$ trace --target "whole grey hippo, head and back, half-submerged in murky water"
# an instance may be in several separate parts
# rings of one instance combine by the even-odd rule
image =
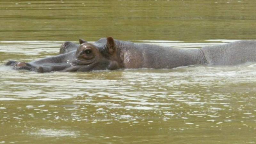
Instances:
[[[101,38],[94,43],[65,42],[60,54],[32,62],[9,61],[7,66],[36,72],[175,68],[188,65],[235,65],[256,61],[256,41],[237,41],[201,49],[176,49]]]

